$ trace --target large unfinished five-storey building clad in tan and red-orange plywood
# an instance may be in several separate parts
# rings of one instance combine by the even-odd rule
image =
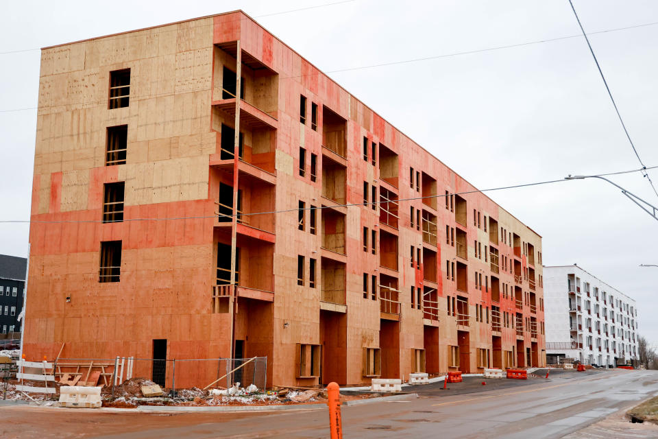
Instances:
[[[38,108],[28,357],[544,364],[541,237],[243,12],[43,49]]]

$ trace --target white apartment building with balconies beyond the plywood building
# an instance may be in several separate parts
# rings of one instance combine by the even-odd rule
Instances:
[[[547,363],[609,366],[637,359],[635,300],[578,265],[544,267]]]

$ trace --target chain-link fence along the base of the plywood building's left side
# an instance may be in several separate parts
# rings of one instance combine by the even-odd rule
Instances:
[[[134,357],[60,358],[53,364],[56,380],[69,385],[116,388],[131,379],[147,379],[165,393],[192,388],[267,388],[267,357],[153,359]],[[238,384],[239,383],[239,384]]]

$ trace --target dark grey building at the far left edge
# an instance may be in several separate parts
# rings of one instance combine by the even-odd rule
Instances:
[[[0,333],[19,338],[27,259],[0,254]]]

